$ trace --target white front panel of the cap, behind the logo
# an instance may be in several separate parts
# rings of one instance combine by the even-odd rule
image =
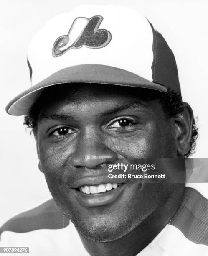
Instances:
[[[79,36],[93,17],[101,16],[94,34],[109,31],[112,38],[100,48],[80,45]],[[91,35],[94,37],[94,34]],[[71,47],[53,56],[53,45],[64,36]],[[78,36],[78,37],[77,37]],[[32,85],[57,70],[80,64],[101,64],[127,70],[152,81],[153,35],[145,17],[121,6],[81,6],[70,13],[53,18],[33,38],[28,51],[32,67]]]

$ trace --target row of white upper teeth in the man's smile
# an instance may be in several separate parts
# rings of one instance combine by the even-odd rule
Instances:
[[[83,192],[84,194],[104,193],[106,191],[112,190],[113,188],[116,189],[119,185],[117,183],[100,184],[98,186],[86,186],[85,185],[85,186],[79,187],[79,191]]]

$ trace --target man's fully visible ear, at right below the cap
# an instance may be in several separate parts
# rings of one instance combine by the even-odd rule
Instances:
[[[183,112],[175,117],[177,155],[180,157],[184,157],[190,149],[193,124],[193,111],[190,105],[183,102],[183,109]]]

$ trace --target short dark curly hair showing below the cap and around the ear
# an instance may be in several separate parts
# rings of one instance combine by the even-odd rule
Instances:
[[[47,89],[45,89],[47,90]],[[145,90],[145,89],[142,89]],[[152,92],[153,90],[151,90]],[[155,91],[155,90],[154,90]],[[167,116],[167,118],[171,118],[175,115],[179,115],[183,112],[183,101],[181,94],[179,92],[175,92],[174,90],[167,90],[167,92],[154,92],[157,100],[159,100],[162,105],[162,109]],[[24,125],[27,125],[28,128],[31,128],[31,132],[36,133],[37,123],[38,123],[38,115],[39,115],[39,104],[38,100],[33,104],[30,108],[30,111],[24,117]],[[190,148],[189,151],[185,154],[185,157],[191,156],[195,152],[196,140],[198,138],[198,128],[196,125],[196,120],[193,118],[192,124],[192,136],[190,140]]]

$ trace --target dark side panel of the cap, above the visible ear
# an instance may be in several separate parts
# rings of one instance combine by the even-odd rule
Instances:
[[[153,33],[152,51],[154,59],[152,62],[152,80],[162,84],[166,88],[180,92],[178,70],[175,57],[163,36],[154,29],[150,23]]]

